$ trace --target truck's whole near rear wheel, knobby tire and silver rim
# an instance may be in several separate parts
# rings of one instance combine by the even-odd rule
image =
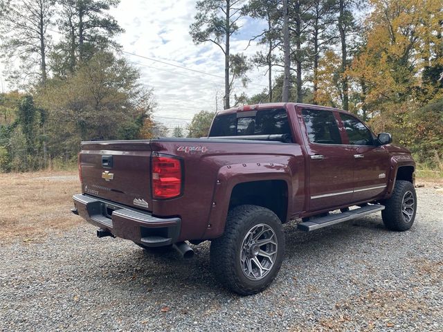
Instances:
[[[223,236],[210,245],[215,277],[240,295],[260,293],[280,270],[284,233],[278,216],[256,205],[239,205],[228,213]]]

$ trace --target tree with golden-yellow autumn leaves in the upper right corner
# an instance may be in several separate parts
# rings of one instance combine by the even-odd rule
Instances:
[[[402,102],[423,106],[438,97],[440,82],[422,80],[428,66],[443,64],[439,54],[443,12],[438,0],[372,0],[372,29],[347,75],[360,86],[367,109],[389,111]],[[426,46],[426,47],[425,47]],[[425,84],[429,84],[426,86]]]

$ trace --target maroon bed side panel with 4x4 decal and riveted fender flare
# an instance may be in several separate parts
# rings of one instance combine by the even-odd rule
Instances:
[[[202,139],[152,140],[151,143],[153,152],[184,160],[183,195],[172,200],[152,201],[154,215],[181,217],[180,240],[219,237],[224,230],[230,193],[238,183],[286,181],[288,216],[294,210],[302,210],[305,173],[298,144]]]

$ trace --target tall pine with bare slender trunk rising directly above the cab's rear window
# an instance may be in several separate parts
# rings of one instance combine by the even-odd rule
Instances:
[[[242,17],[243,0],[197,1],[195,22],[190,25],[190,35],[195,44],[211,42],[224,54],[224,108],[230,108],[230,37],[239,30],[237,21]]]

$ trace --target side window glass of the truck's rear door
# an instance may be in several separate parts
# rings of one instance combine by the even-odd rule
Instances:
[[[318,144],[341,144],[340,131],[332,111],[303,109],[309,142]]]

